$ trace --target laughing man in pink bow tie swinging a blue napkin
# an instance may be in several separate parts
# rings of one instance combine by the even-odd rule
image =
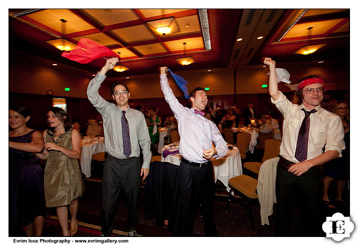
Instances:
[[[217,230],[213,219],[214,182],[210,160],[223,157],[228,148],[216,125],[203,117],[207,104],[204,89],[195,88],[190,95],[191,108],[183,107],[169,87],[166,72],[166,67],[160,68],[161,90],[178,122],[179,154],[182,155],[178,171],[180,231],[184,236],[192,234],[201,204],[204,233],[213,236]]]

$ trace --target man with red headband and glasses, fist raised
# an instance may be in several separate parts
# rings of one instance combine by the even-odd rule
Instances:
[[[322,78],[301,80],[297,95],[302,103],[297,105],[278,91],[275,61],[265,58],[264,64],[269,67],[271,102],[284,116],[276,172],[276,234],[290,235],[291,207],[297,196],[300,235],[318,236],[324,222],[318,220],[321,165],[341,156],[345,148],[341,121],[320,107],[325,91]]]

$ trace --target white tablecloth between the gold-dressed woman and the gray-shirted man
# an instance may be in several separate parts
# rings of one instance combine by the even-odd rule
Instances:
[[[81,155],[79,158],[79,162],[81,171],[84,173],[86,178],[91,176],[92,155],[99,152],[104,152],[103,139],[90,144],[83,143],[83,141],[81,142]]]

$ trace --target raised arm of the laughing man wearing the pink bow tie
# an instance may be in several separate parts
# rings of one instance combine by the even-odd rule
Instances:
[[[178,120],[184,112],[184,107],[178,102],[177,98],[173,94],[172,89],[169,87],[166,72],[167,67],[161,67],[159,69],[161,90],[163,92],[164,99],[166,100],[174,114],[174,117]]]

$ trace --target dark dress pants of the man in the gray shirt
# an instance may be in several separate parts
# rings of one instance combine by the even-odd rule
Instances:
[[[121,189],[124,192],[128,209],[126,230],[131,231],[137,225],[138,195],[141,181],[141,163],[139,158],[117,159],[108,155],[103,168],[101,231],[109,236],[113,229],[116,200]]]

